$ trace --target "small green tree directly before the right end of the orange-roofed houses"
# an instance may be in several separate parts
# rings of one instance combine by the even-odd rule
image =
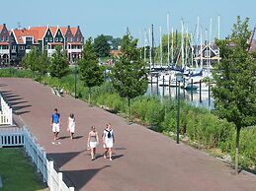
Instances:
[[[61,46],[57,46],[52,54],[49,72],[51,77],[55,77],[58,80],[69,73],[69,63],[65,52],[61,50]]]

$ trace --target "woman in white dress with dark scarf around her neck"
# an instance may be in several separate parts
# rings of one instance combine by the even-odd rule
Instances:
[[[103,138],[103,147],[105,148],[104,159],[107,159],[107,155],[109,153],[110,160],[112,160],[112,148],[115,143],[114,131],[111,128],[111,124],[108,123],[106,129],[102,135]]]

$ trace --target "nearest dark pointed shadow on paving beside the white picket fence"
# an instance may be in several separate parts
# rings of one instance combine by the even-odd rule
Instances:
[[[105,165],[100,168],[81,169],[81,170],[64,170],[63,180],[68,186],[74,186],[75,190],[83,188],[99,171],[111,167],[111,165]],[[72,177],[72,178],[69,178]]]

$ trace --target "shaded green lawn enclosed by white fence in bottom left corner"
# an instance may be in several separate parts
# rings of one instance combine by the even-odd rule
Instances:
[[[23,149],[0,149],[1,191],[46,191],[36,168]]]

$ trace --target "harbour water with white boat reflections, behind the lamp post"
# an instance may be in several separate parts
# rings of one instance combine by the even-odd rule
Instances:
[[[146,92],[148,96],[158,96],[160,99],[165,98],[177,98],[178,88],[176,87],[160,87],[156,84],[148,84]],[[185,91],[180,90],[180,96],[187,100],[189,103],[195,106],[204,107],[207,109],[213,109],[213,97],[209,91]]]

